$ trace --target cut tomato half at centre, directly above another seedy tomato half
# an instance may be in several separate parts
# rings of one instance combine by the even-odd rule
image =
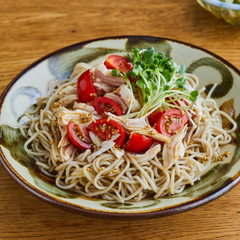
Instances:
[[[123,115],[120,106],[110,98],[98,97],[92,101],[92,106],[95,108],[98,114],[103,117],[108,117],[105,112],[110,112],[117,116]]]

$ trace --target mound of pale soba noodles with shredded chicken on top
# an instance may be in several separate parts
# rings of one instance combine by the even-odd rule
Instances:
[[[128,112],[123,116],[109,112],[107,118],[120,124],[126,135],[138,133],[152,138],[152,143],[147,150],[136,153],[125,149],[127,140],[120,147],[115,145],[119,134],[102,139],[89,131],[94,147],[77,147],[68,135],[69,122],[87,128],[103,118],[91,102],[79,102],[77,82],[89,68],[77,64],[69,79],[60,81],[46,96],[38,98],[34,111],[25,112],[28,121],[20,128],[27,139],[27,154],[44,174],[56,179],[59,188],[119,202],[140,201],[147,196],[159,198],[182,192],[186,185],[199,180],[211,163],[229,156],[229,152],[221,153],[221,146],[231,141],[230,133],[236,129],[236,123],[210,98],[214,89],[206,98],[199,95],[192,108],[181,103],[183,109],[188,109],[188,123],[176,134],[164,136],[155,126],[149,126],[148,115],[140,112],[143,107],[139,96],[131,92],[124,79],[118,77],[116,84],[109,84],[114,77],[106,75],[106,69],[101,71],[103,64],[95,67],[99,93],[117,99],[120,106],[124,105],[124,113]],[[179,74],[174,76],[176,79]],[[196,76],[185,74],[184,78],[189,91],[197,89]],[[179,107],[176,103],[175,106]],[[167,103],[165,107],[171,108]],[[231,122],[231,129],[223,129],[222,117]]]

